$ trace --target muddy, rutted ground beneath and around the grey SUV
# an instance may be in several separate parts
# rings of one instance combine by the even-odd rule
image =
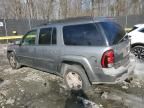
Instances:
[[[130,83],[68,91],[55,75],[29,67],[12,70],[1,47],[0,108],[144,108],[144,64],[135,63]]]

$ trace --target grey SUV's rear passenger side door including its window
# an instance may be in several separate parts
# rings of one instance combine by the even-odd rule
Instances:
[[[35,67],[49,72],[56,71],[58,55],[57,29],[55,27],[41,28],[35,53]]]

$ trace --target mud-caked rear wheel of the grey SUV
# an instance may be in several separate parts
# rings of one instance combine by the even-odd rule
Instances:
[[[91,86],[84,69],[79,65],[66,66],[64,81],[70,90],[87,90]]]

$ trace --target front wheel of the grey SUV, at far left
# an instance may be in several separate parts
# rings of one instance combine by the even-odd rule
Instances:
[[[12,69],[19,69],[21,67],[20,63],[16,59],[14,52],[11,52],[8,55],[8,60],[9,60],[9,64],[12,67]]]

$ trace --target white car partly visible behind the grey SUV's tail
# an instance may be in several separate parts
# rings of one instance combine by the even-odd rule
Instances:
[[[131,52],[140,60],[144,60],[144,24],[137,24],[128,33],[131,39]]]

